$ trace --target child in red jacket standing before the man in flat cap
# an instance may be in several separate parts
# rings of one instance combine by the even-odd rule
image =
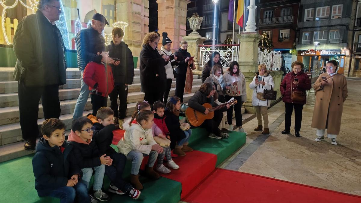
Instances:
[[[105,51],[104,44],[95,47],[96,54],[109,57],[109,51]],[[100,107],[106,107],[108,95],[114,88],[112,68],[103,62],[89,62],[84,69],[83,81],[89,86],[93,115]]]

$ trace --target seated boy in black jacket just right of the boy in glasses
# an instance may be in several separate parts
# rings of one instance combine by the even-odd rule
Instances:
[[[97,113],[96,118],[98,122],[94,123],[94,135],[95,143],[99,149],[99,154],[110,156],[113,160],[112,164],[105,166],[105,174],[110,179],[109,192],[119,195],[128,194],[133,199],[138,199],[140,191],[134,189],[130,183],[122,179],[126,156],[116,152],[113,147],[110,146],[113,142],[113,130],[115,126],[113,124],[114,112],[108,107],[101,107]]]

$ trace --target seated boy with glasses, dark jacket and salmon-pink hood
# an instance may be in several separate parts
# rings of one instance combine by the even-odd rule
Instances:
[[[71,133],[68,142],[73,146],[73,154],[79,168],[83,172],[81,182],[89,189],[89,182],[94,175],[92,198],[102,202],[109,200],[109,195],[101,190],[105,173],[105,165],[112,165],[112,159],[106,154],[99,157],[99,150],[93,138],[93,123],[89,118],[79,117],[71,123]]]

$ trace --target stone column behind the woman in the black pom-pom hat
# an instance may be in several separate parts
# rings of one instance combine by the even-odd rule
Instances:
[[[158,47],[162,46],[162,32],[166,32],[172,40],[171,51],[178,50],[182,37],[186,36],[187,4],[190,2],[190,0],[157,0],[158,33],[161,35]]]

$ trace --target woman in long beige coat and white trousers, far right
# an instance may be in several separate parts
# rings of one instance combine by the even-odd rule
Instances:
[[[327,128],[327,137],[336,145],[336,137],[340,133],[343,103],[347,98],[347,81],[344,75],[336,72],[338,65],[335,60],[327,62],[326,68],[327,73],[319,75],[313,85],[316,102],[311,127],[317,128],[315,141],[325,139]],[[326,80],[322,79],[325,77]]]

